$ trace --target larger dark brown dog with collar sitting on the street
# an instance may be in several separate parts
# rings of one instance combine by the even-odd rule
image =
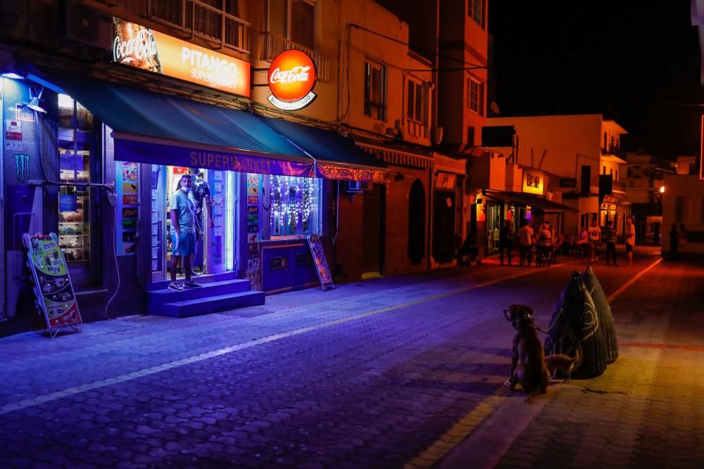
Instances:
[[[513,323],[511,374],[503,385],[513,391],[520,384],[531,402],[537,394],[545,394],[550,374],[545,366],[545,352],[533,322],[533,310],[524,304],[512,304],[504,309],[503,316]]]

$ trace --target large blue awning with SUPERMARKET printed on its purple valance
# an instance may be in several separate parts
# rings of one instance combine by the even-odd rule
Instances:
[[[113,129],[115,160],[313,177],[313,160],[246,111],[44,74]]]

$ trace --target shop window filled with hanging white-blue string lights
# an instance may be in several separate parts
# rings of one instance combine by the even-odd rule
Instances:
[[[318,233],[320,179],[268,176],[270,237]]]

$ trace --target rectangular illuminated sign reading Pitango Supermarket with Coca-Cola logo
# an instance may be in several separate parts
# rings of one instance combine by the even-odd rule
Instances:
[[[113,18],[113,61],[249,97],[249,62]]]

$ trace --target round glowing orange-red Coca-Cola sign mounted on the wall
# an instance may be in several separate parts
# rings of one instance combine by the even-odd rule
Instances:
[[[303,109],[317,96],[315,63],[308,54],[291,49],[279,53],[269,68],[269,102],[279,109]]]

